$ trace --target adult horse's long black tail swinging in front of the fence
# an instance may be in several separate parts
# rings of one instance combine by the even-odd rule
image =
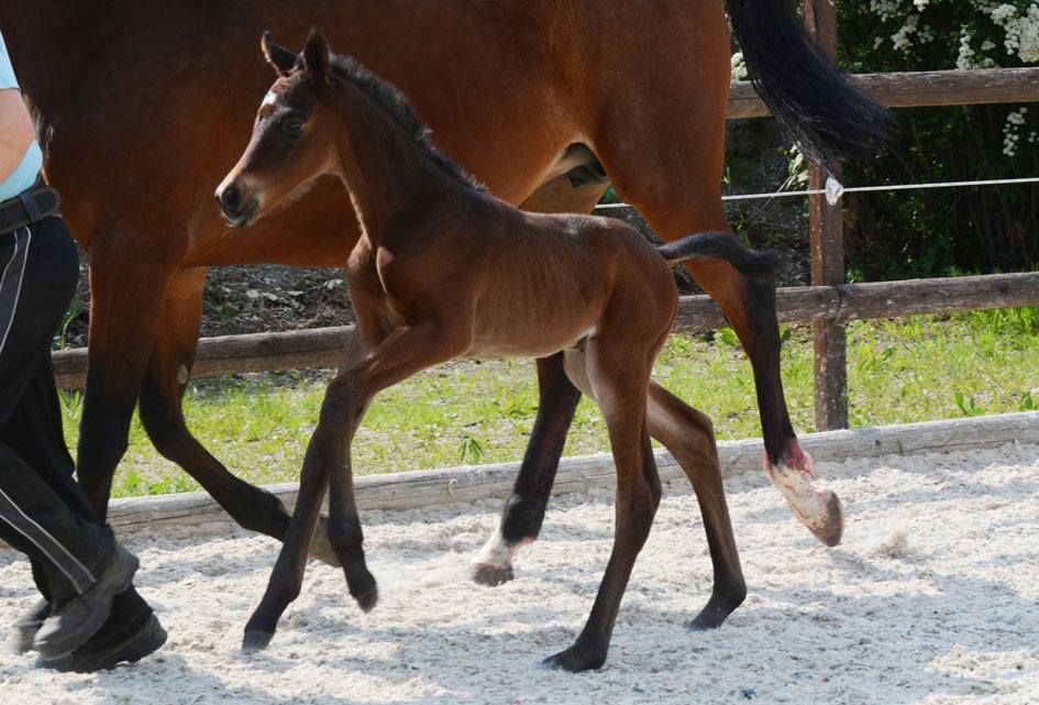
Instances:
[[[754,88],[816,162],[870,155],[891,113],[848,82],[809,37],[792,0],[728,0]]]

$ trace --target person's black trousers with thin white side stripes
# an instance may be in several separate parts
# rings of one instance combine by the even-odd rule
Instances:
[[[51,341],[78,276],[63,220],[0,235],[0,539],[29,555],[48,601],[82,594],[115,544],[73,478],[51,368]],[[130,588],[99,634],[124,631],[150,614]]]

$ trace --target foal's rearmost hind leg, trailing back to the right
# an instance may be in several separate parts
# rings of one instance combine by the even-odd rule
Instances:
[[[704,517],[707,547],[715,569],[715,585],[707,606],[689,625],[694,629],[720,627],[747,596],[740,557],[729,520],[721,466],[710,419],[655,382],[650,382],[650,436],[671,451],[696,492]]]

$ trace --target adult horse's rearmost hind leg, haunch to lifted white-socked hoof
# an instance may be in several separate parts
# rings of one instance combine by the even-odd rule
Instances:
[[[697,43],[661,41],[665,53],[640,47],[631,56],[614,57],[630,59],[623,82],[603,86],[596,119],[586,128],[617,192],[664,240],[729,229],[720,192],[729,33],[720,4],[700,3],[693,11],[698,13]],[[675,46],[681,47],[677,53]],[[690,71],[689,66],[697,69]],[[642,88],[659,85],[668,87],[668,99],[648,100]],[[816,538],[834,546],[843,531],[843,514],[832,492],[813,486],[811,459],[791,423],[780,374],[773,287],[751,282],[716,260],[686,266],[725,312],[750,357],[769,476]]]

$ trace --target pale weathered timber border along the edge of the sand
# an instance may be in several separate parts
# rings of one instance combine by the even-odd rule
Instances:
[[[1039,443],[1039,411],[824,431],[803,436],[802,443],[817,462]],[[727,477],[761,471],[761,439],[721,441],[718,454]],[[656,451],[655,455],[662,481],[683,476],[670,453]],[[502,502],[511,492],[518,470],[519,463],[501,463],[362,476],[356,478],[357,506],[362,510],[417,509],[478,499]],[[610,487],[614,482],[610,455],[564,458],[553,493]],[[267,489],[290,509],[295,505],[298,485],[273,485]],[[776,502],[780,502],[778,495]],[[201,492],[114,499],[108,519],[121,533],[163,526],[232,525],[223,509]]]

